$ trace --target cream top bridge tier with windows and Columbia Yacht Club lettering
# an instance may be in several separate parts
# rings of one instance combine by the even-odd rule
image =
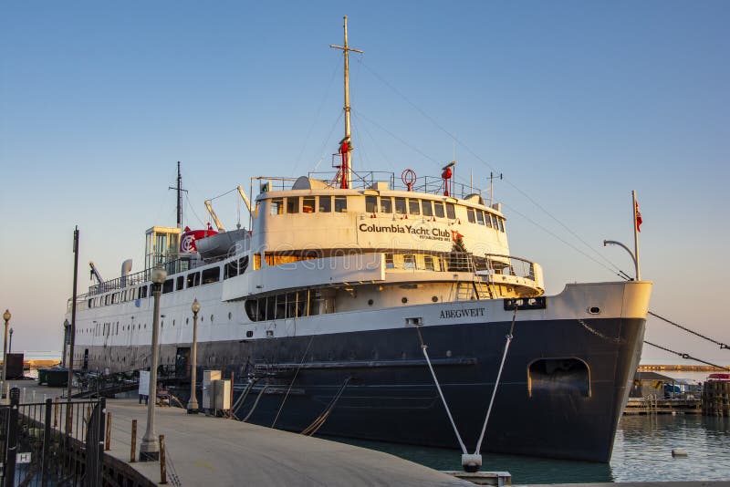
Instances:
[[[443,181],[415,179],[411,191],[392,173],[367,173],[339,189],[323,179],[256,178],[253,248],[272,254],[339,249],[449,252],[461,238],[475,255],[509,254],[499,203],[482,192]],[[440,183],[438,182],[440,181]],[[454,196],[454,194],[456,196]]]

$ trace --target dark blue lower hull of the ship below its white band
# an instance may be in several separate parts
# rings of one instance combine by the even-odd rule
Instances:
[[[470,452],[509,326],[420,327]],[[517,321],[482,450],[609,461],[643,333],[643,319]],[[168,360],[175,353],[162,347]],[[276,418],[276,428],[302,431],[331,405],[318,433],[458,448],[412,326],[206,343],[198,354],[199,370],[233,371],[239,384],[255,377],[238,418],[250,413],[265,426]],[[238,386],[235,399],[242,392]]]

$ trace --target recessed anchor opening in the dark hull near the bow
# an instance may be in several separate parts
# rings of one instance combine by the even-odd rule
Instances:
[[[590,371],[578,358],[540,358],[527,370],[527,393],[534,396],[554,397],[572,395],[590,396]]]

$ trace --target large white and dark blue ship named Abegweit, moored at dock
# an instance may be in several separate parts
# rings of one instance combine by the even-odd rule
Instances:
[[[510,254],[501,203],[455,181],[454,161],[435,176],[354,171],[348,73],[357,49],[347,18],[344,45],[333,47],[345,63],[345,132],[331,173],[252,177],[248,195],[238,187],[249,226],[231,231],[210,202],[217,231],[183,228],[178,176],[177,225],[147,230],[143,270],[125,261],[103,280],[92,266],[96,284],[68,301],[68,360],[89,373],[151,368],[151,271],[162,266],[160,363],[181,378],[192,368],[235,377],[239,419],[609,461],[652,283],[545,295],[542,267]]]

